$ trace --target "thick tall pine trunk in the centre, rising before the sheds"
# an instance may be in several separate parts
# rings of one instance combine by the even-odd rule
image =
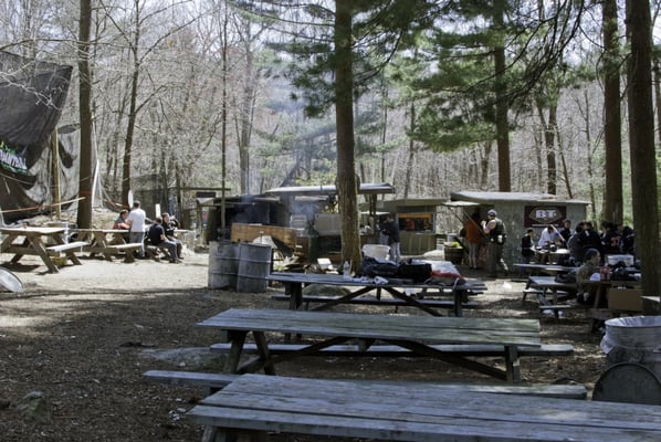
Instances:
[[[337,130],[337,192],[342,218],[342,260],[357,270],[360,264],[358,186],[354,159],[352,0],[336,0],[335,118]]]

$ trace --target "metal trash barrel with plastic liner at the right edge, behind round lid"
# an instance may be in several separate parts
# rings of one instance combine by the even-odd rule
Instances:
[[[661,316],[628,316],[606,322],[601,339],[609,366],[636,362],[661,378]]]

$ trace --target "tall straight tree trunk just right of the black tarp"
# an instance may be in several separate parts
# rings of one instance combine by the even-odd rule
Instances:
[[[81,119],[81,164],[78,178],[78,201],[76,222],[78,228],[92,227],[92,73],[90,70],[90,29],[92,25],[91,0],[80,2],[78,29],[78,115]]]

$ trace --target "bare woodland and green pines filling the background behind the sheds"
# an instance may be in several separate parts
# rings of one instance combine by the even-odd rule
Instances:
[[[0,49],[77,66],[61,123],[80,125],[124,203],[146,180],[245,194],[350,190],[356,175],[398,198],[542,191],[630,222],[632,183],[650,178],[631,173],[640,157],[658,231],[658,152],[630,152],[641,133],[626,122],[660,125],[623,105],[633,33],[655,48],[658,13],[659,1],[617,0],[17,0],[0,4]]]

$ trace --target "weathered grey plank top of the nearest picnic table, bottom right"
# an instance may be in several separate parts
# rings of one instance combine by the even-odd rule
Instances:
[[[661,407],[443,385],[243,375],[192,408],[202,441],[266,432],[388,441],[655,441]]]

